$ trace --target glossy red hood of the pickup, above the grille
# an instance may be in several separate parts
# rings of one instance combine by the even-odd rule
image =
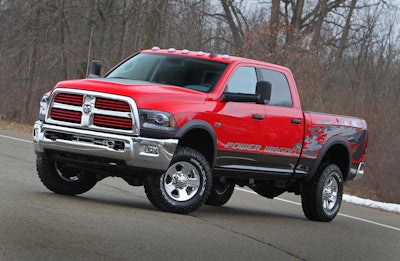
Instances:
[[[183,87],[126,79],[80,79],[61,81],[56,88],[96,91],[131,97],[138,108],[162,109],[173,104],[201,104],[207,94]]]

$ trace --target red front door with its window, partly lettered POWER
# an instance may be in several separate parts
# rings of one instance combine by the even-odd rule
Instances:
[[[254,67],[237,68],[225,92],[255,94],[257,74]],[[218,137],[216,167],[232,170],[259,170],[262,167],[265,105],[227,102],[218,112],[215,131]]]

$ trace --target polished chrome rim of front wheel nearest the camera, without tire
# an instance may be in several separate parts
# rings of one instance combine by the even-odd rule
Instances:
[[[200,184],[201,179],[197,168],[185,161],[171,165],[163,175],[162,185],[165,192],[169,197],[180,202],[193,198]]]

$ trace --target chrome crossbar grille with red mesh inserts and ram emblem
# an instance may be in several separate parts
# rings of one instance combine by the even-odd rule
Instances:
[[[93,91],[55,89],[46,122],[110,133],[140,134],[139,113],[132,98]]]

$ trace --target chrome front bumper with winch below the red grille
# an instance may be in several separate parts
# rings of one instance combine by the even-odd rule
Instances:
[[[42,121],[33,127],[37,154],[54,150],[124,161],[126,165],[166,170],[178,145],[177,139],[150,139],[49,125]]]

